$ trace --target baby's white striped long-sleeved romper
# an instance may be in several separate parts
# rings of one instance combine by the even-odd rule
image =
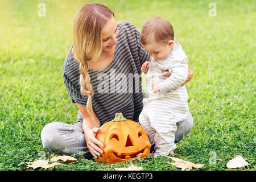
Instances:
[[[154,141],[157,155],[168,155],[175,150],[176,123],[187,118],[189,113],[187,89],[185,85],[181,86],[187,80],[188,64],[183,63],[187,56],[177,44],[165,59],[153,58],[146,73],[148,98],[143,99],[139,122]],[[168,78],[162,74],[166,70],[171,73]],[[159,82],[160,93],[154,94],[154,82]]]

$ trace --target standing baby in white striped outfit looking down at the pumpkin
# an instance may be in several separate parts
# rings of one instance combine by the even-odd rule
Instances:
[[[156,156],[174,154],[177,122],[188,117],[188,93],[182,84],[187,80],[188,64],[183,49],[174,41],[174,30],[164,18],[154,17],[142,26],[140,40],[152,56],[142,65],[146,74],[146,93],[139,122],[155,144]],[[162,71],[169,71],[166,78]]]

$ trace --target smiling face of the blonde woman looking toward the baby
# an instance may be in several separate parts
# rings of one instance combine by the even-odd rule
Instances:
[[[115,37],[118,34],[117,23],[114,16],[112,16],[101,30],[102,52],[113,52],[115,50],[115,44],[117,44]]]

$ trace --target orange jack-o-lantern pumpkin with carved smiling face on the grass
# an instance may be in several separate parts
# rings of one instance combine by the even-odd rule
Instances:
[[[150,154],[151,144],[146,131],[135,121],[125,119],[122,113],[100,127],[96,138],[104,144],[101,156],[96,162],[114,164],[126,160],[144,158]]]

